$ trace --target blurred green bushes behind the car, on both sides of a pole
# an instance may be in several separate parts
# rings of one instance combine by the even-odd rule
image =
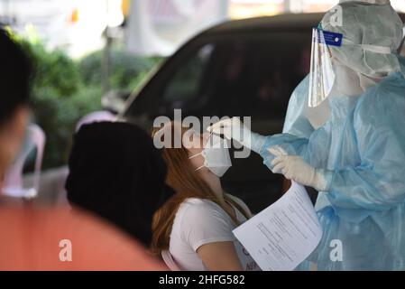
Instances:
[[[102,51],[73,61],[64,51],[47,51],[38,39],[15,37],[32,57],[33,120],[47,136],[43,169],[67,163],[72,135],[81,117],[102,109]],[[111,88],[132,90],[158,60],[112,51]]]

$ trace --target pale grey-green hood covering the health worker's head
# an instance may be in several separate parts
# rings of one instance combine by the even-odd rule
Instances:
[[[322,29],[344,35],[341,47],[330,47],[332,55],[352,70],[373,79],[382,79],[391,72],[400,71],[400,63],[394,53],[371,51],[373,49],[361,46],[389,47],[391,51],[400,48],[403,24],[390,1],[340,1],[338,6],[327,12],[321,22]],[[341,26],[336,23],[339,11]]]

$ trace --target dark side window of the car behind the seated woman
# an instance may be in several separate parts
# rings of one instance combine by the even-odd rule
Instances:
[[[281,37],[263,33],[201,46],[161,86],[161,107],[198,117],[284,117],[293,89],[309,70],[310,37]]]

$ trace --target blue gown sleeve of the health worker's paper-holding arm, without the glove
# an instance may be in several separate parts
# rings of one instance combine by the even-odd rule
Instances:
[[[367,90],[358,104],[354,129],[361,163],[334,173],[328,199],[336,206],[391,210],[405,201],[405,81],[400,79]]]

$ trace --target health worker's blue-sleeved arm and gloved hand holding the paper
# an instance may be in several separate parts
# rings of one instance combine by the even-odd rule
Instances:
[[[405,83],[400,91],[403,87]],[[405,122],[401,112],[405,103],[400,92],[390,94],[382,90],[380,93],[363,98],[354,114],[355,143],[342,148],[358,150],[359,163],[335,170],[315,169],[302,159],[287,155],[272,162],[276,165],[274,169],[281,168],[287,178],[327,191],[328,200],[336,208],[391,210],[404,202]],[[352,154],[345,151],[340,154],[351,155],[348,153]]]

